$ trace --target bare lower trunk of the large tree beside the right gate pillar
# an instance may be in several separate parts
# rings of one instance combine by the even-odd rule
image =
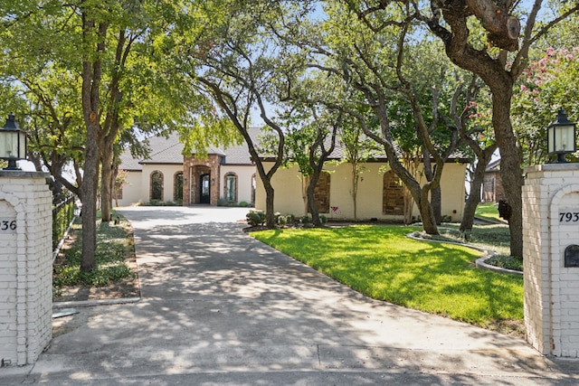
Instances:
[[[521,171],[521,149],[510,122],[511,85],[502,92],[493,90],[492,123],[500,150],[500,177],[505,197],[510,207],[508,228],[510,231],[510,254],[523,257],[523,174]]]

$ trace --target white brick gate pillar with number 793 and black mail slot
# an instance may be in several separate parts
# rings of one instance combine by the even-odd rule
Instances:
[[[523,254],[527,342],[540,353],[579,353],[579,268],[565,268],[565,248],[579,245],[579,223],[559,223],[579,212],[579,164],[525,169]]]

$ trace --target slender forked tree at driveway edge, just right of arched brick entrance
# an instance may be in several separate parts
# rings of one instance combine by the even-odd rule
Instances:
[[[248,146],[266,192],[268,227],[275,226],[271,177],[282,163],[285,140],[280,119],[270,107],[282,103],[287,85],[301,71],[299,62],[295,62],[292,52],[280,42],[275,31],[282,28],[281,23],[295,23],[304,12],[299,5],[279,1],[207,2],[204,13],[197,15],[207,21],[203,31],[176,30],[174,34],[176,41],[184,36],[190,44],[175,53],[182,59],[181,65],[192,86],[214,100],[215,107],[231,120]],[[265,169],[261,158],[264,154],[260,153],[256,138],[250,132],[254,109],[264,127],[278,138],[269,170]],[[200,127],[197,133],[200,137]],[[227,130],[205,134],[207,140],[225,145],[236,138]]]

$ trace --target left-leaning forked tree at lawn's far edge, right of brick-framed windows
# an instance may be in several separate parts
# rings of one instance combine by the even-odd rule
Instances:
[[[385,17],[395,15],[400,23],[384,22],[383,26],[374,28],[356,14],[356,5],[327,5],[328,17],[323,23],[326,41],[317,43],[318,40],[312,39],[309,49],[315,54],[311,64],[313,68],[337,74],[361,96],[352,101],[362,101],[374,111],[377,125],[364,114],[360,114],[352,103],[343,103],[340,107],[358,120],[366,136],[384,147],[390,168],[403,181],[419,208],[424,231],[437,234],[437,220],[432,211],[430,196],[440,185],[444,162],[449,156],[445,153],[451,153],[456,146],[458,135],[453,127],[445,127],[450,128],[450,132],[454,131],[454,134],[448,137],[453,139],[448,143],[449,147],[444,149],[439,148],[432,140],[432,135],[441,122],[438,111],[439,90],[432,88],[432,83],[431,88],[424,88],[426,83],[416,76],[413,77],[413,71],[409,70],[427,59],[427,56],[416,56],[421,51],[418,49],[419,44],[413,39],[417,32],[410,23],[411,11],[410,6],[391,7]],[[348,28],[344,28],[344,25]],[[313,33],[312,31],[308,33]],[[432,62],[424,64],[417,71],[429,72],[429,64]],[[430,97],[426,101],[422,98],[424,94]],[[422,160],[425,167],[429,167],[427,164],[431,158],[433,160],[432,174],[422,185],[400,161],[401,148],[397,141],[400,137],[397,135],[402,131],[396,131],[395,128],[409,127],[401,124],[392,114],[392,106],[400,99],[403,100],[405,110],[412,116],[410,127],[416,143],[423,149]],[[379,127],[380,131],[376,132],[372,127]]]

